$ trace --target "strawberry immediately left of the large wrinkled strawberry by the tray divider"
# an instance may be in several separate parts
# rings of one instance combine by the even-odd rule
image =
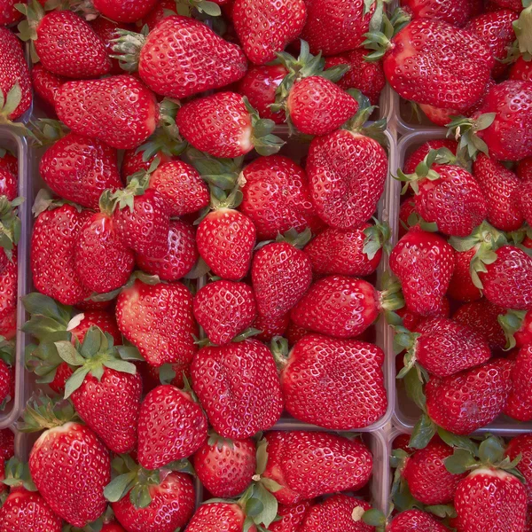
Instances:
[[[290,229],[316,231],[322,225],[312,206],[305,171],[284,155],[259,157],[243,171],[240,210],[250,218],[259,240]]]

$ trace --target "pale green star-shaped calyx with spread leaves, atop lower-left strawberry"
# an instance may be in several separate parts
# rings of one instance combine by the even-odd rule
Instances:
[[[59,356],[66,364],[77,368],[65,385],[65,399],[82,386],[87,375],[92,375],[98,382],[106,368],[116,372],[135,375],[137,366],[128,360],[142,360],[135,348],[122,348],[113,345],[113,337],[97,326],[91,326],[85,333],[82,344],[75,340],[55,342]]]

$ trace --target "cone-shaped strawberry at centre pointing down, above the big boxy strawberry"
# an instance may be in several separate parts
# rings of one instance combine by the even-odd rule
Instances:
[[[288,233],[287,233],[288,234]],[[263,246],[254,254],[251,267],[253,290],[259,315],[277,318],[300,301],[312,282],[309,258],[298,249],[301,233],[288,241],[278,241]]]

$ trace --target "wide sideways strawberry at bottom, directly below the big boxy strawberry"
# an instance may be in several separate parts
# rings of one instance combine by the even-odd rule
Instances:
[[[364,442],[322,432],[264,434],[268,462],[265,479],[282,487],[273,495],[283,505],[337,491],[356,491],[372,472],[372,453]]]

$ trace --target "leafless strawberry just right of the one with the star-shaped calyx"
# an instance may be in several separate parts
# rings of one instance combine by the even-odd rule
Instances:
[[[138,417],[138,463],[158,469],[191,456],[207,440],[207,419],[192,395],[179,388],[156,387]]]

